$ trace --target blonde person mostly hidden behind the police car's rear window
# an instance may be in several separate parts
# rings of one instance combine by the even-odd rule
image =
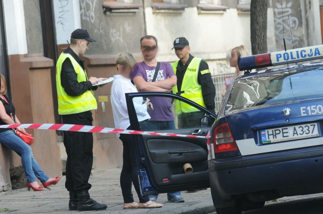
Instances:
[[[238,67],[238,58],[242,56],[249,56],[249,51],[246,48],[246,46],[240,45],[231,50],[231,57],[229,61],[230,61],[230,67],[236,68],[236,72],[234,73],[234,76],[233,76],[234,79],[243,75],[243,71],[241,72]],[[224,88],[222,91],[222,97],[225,96],[226,92],[227,92],[227,88]]]

